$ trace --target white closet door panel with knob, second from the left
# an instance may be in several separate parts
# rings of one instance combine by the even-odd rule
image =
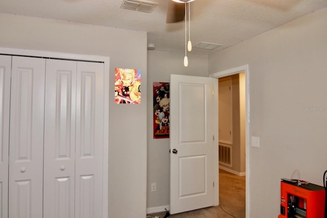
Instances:
[[[12,57],[9,217],[42,217],[45,60]]]

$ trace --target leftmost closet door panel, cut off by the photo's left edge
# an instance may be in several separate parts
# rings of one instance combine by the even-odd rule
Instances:
[[[0,55],[0,218],[8,217],[11,56]]]

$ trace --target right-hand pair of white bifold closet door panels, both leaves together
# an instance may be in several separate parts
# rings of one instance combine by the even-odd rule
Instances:
[[[103,67],[46,61],[43,217],[102,217]]]

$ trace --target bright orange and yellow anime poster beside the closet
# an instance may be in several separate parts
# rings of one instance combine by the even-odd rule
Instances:
[[[141,104],[141,70],[115,68],[114,101],[116,104]]]

